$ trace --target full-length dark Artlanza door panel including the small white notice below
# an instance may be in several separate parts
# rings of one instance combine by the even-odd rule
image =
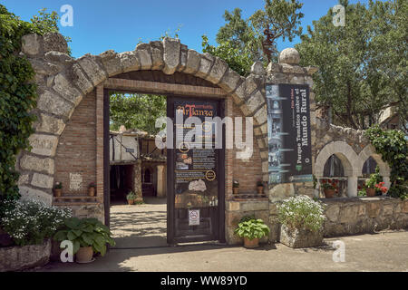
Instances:
[[[219,157],[212,118],[219,103],[177,100],[174,110],[175,237],[210,238],[217,228]]]

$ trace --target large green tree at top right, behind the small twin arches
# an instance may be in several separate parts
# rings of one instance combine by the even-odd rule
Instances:
[[[316,65],[316,101],[329,105],[335,123],[364,129],[380,111],[396,105],[407,120],[408,1],[369,1],[345,6],[345,26],[333,12],[307,27],[296,45],[302,65]]]

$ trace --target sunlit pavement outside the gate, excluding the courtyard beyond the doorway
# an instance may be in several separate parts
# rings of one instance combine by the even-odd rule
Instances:
[[[333,261],[335,240],[345,242],[345,262]],[[408,231],[325,239],[327,246],[292,249],[282,244],[257,249],[222,246],[112,249],[91,264],[52,263],[39,271],[404,271]]]

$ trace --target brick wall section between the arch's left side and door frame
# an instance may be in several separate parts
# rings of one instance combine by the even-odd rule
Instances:
[[[86,195],[88,185],[96,183],[95,111],[96,95],[92,91],[80,102],[60,136],[55,154],[54,179],[63,183],[63,195]],[[70,189],[70,173],[82,175],[82,189]]]

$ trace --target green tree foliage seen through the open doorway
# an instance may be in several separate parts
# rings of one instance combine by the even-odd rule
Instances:
[[[166,116],[166,97],[151,94],[121,93],[111,94],[112,131],[118,131],[121,125],[127,129],[138,129],[156,134],[156,119]]]

